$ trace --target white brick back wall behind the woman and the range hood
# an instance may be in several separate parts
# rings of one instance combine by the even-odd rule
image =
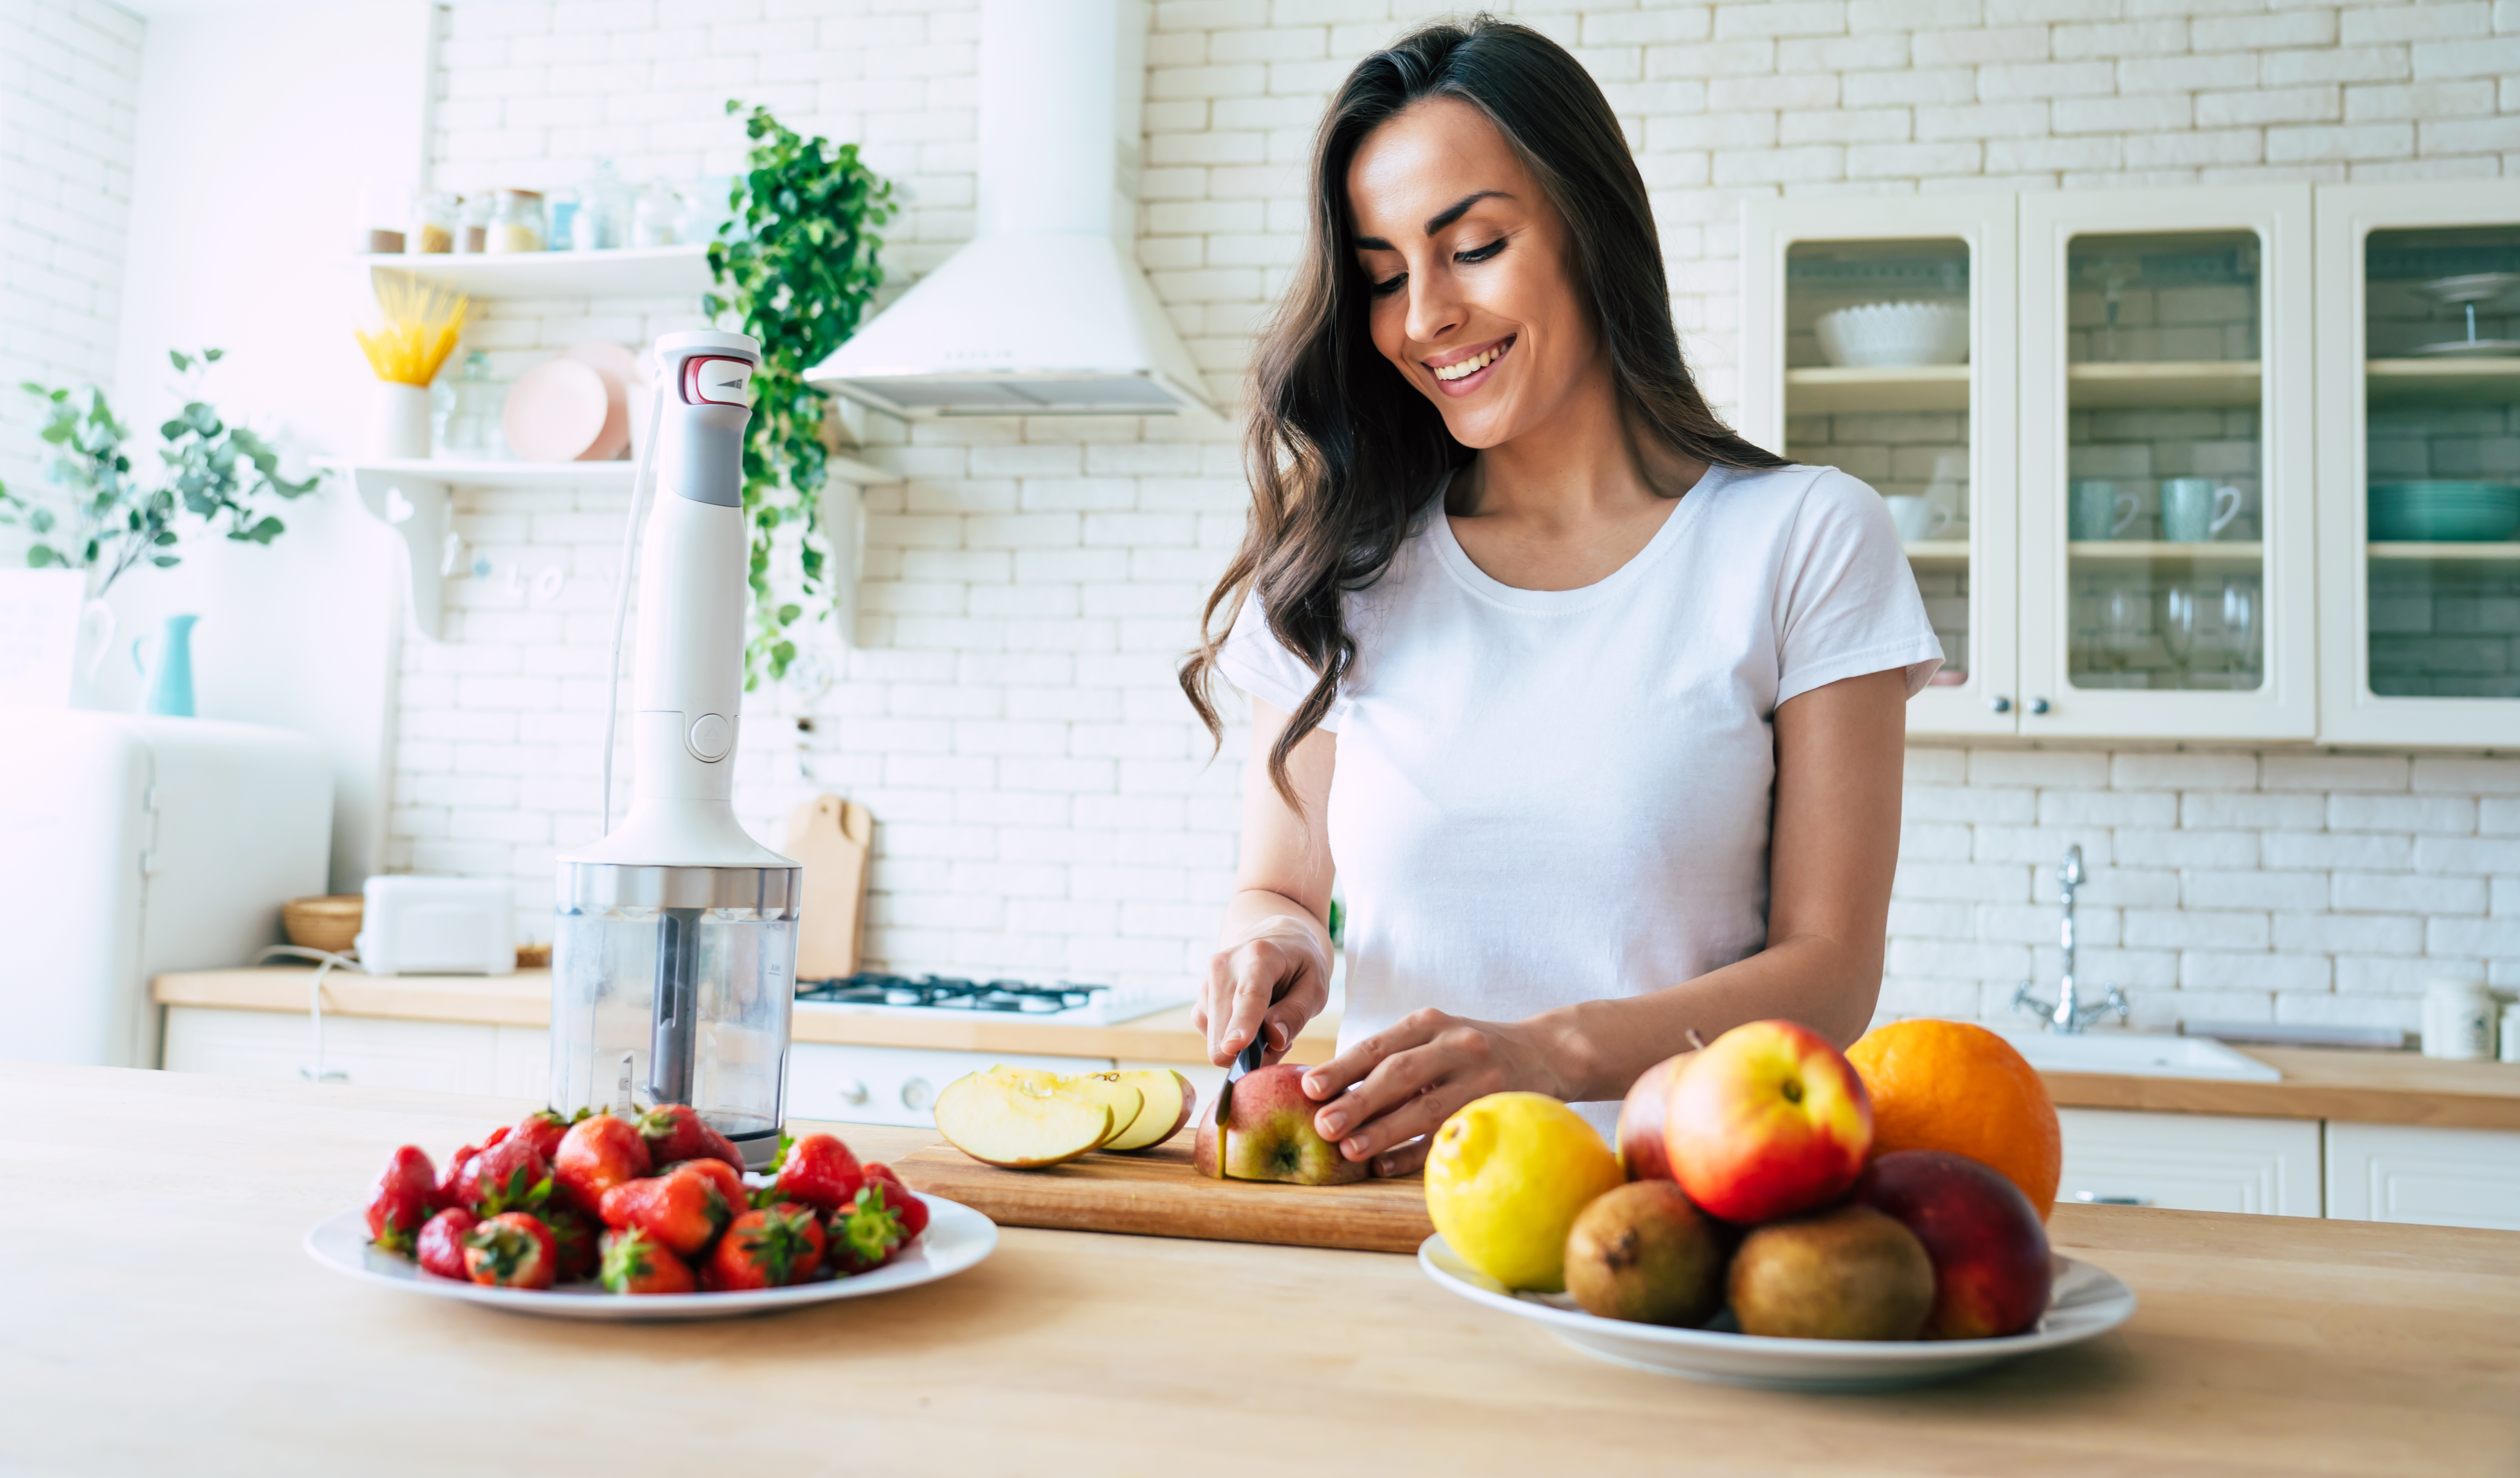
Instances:
[[[2465,0],[1787,0],[1520,10],[1575,45],[1641,149],[1676,308],[1734,393],[1751,192],[2092,189],[2482,177],[2520,161],[2520,8]],[[1409,0],[1159,0],[1139,260],[1232,399],[1300,242],[1300,164],[1346,66]],[[970,232],[975,13],[945,0],[459,5],[444,38],[449,189],[731,169],[726,96],[859,139],[905,187],[887,262]],[[630,305],[640,308],[640,305]],[[670,305],[522,305],[481,343],[534,358],[670,325]],[[1232,865],[1237,739],[1205,739],[1172,658],[1240,530],[1230,441],[1164,421],[892,431],[910,474],[867,517],[859,646],[811,701],[764,694],[738,802],[814,789],[879,817],[869,956],[897,969],[1174,984]],[[617,502],[471,492],[494,562],[575,578],[552,605],[451,588],[408,658],[396,865],[509,873],[547,900],[595,827],[600,613]],[[799,739],[804,747],[799,749]],[[2520,762],[1915,749],[1887,1011],[2003,1014],[2051,981],[2066,842],[2092,863],[2084,971],[2142,1021],[2412,1024],[2444,966],[2520,986]],[[539,923],[532,921],[532,923]]]

